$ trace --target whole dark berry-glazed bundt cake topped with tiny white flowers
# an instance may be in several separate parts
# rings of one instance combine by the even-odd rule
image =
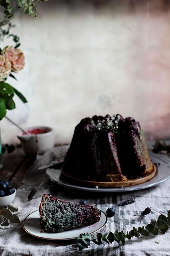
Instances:
[[[63,165],[69,176],[99,182],[140,178],[151,170],[139,122],[119,114],[81,120]]]

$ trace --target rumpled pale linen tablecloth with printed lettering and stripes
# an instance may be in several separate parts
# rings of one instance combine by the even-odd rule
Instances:
[[[23,182],[17,190],[14,204],[17,204],[20,211],[20,220],[38,209],[43,193],[52,194],[58,198],[65,198],[74,202],[86,199],[89,204],[96,204],[96,207],[106,212],[107,208],[115,209],[115,216],[109,218],[107,225],[100,232],[115,230],[130,231],[133,226],[143,226],[150,220],[158,218],[159,213],[151,211],[146,216],[140,213],[146,207],[166,214],[170,209],[170,180],[152,187],[150,189],[134,192],[124,192],[117,194],[87,193],[75,190],[67,190],[57,184],[49,182],[45,176],[45,169],[38,168],[44,164],[61,158],[65,155],[68,146],[61,146],[45,151],[37,156],[36,162],[28,170]],[[168,159],[168,158],[167,158]],[[169,158],[170,159],[170,158]],[[170,162],[170,160],[168,160]],[[27,197],[32,188],[37,187],[34,199],[28,201]],[[136,202],[127,206],[118,206],[120,200],[135,197]],[[155,243],[159,242],[159,243]],[[35,238],[27,234],[21,224],[10,224],[8,227],[0,228],[0,255],[1,256],[70,256],[70,255],[95,255],[95,256],[161,256],[170,255],[170,231],[158,236],[132,238],[126,240],[125,244],[102,244],[100,246],[91,243],[91,246],[83,251],[79,251],[75,246],[76,241],[49,241]]]

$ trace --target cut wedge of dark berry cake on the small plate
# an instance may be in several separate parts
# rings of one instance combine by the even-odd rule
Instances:
[[[58,233],[96,223],[101,211],[92,205],[68,202],[43,194],[39,206],[42,232]]]

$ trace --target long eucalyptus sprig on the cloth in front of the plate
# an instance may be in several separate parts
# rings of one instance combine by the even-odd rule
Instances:
[[[133,237],[139,238],[142,236],[149,236],[150,234],[158,235],[159,230],[162,233],[165,233],[170,226],[170,210],[168,211],[168,216],[166,217],[163,214],[160,214],[158,220],[152,220],[146,227],[133,227],[132,230],[125,234],[123,230],[119,232],[118,230],[113,232],[106,232],[105,234],[97,233],[97,238],[91,238],[89,233],[80,234],[79,238],[77,238],[77,246],[79,250],[84,248],[88,248],[90,243],[93,242],[95,244],[102,244],[102,242],[106,242],[107,244],[111,244],[112,242],[125,242],[126,239],[130,240]]]

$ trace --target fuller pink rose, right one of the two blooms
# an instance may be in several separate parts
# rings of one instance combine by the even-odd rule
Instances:
[[[20,49],[14,48],[14,46],[7,46],[2,51],[5,54],[6,59],[11,64],[11,71],[17,73],[24,67],[24,54]]]

